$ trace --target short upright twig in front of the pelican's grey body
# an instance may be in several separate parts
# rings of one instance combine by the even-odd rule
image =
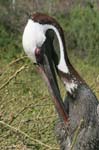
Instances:
[[[81,120],[80,120],[80,123],[79,123],[79,125],[78,125],[78,127],[77,127],[77,129],[76,129],[76,131],[75,131],[75,134],[74,134],[74,137],[73,137],[71,146],[70,146],[70,150],[73,150],[73,147],[74,147],[74,145],[75,145],[75,143],[76,143],[76,141],[77,141],[77,137],[78,137],[78,134],[79,134],[79,130],[81,129],[81,125],[82,125],[83,122],[84,122],[84,120],[81,119]]]

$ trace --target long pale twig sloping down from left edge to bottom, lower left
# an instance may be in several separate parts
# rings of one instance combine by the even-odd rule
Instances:
[[[33,137],[29,136],[27,133],[21,131],[21,130],[18,129],[18,128],[15,128],[14,126],[11,126],[11,125],[5,123],[4,121],[0,121],[0,124],[5,125],[6,127],[8,127],[9,129],[13,130],[14,132],[19,132],[20,134],[24,135],[25,137],[28,137],[30,140],[32,140],[32,141],[34,141],[34,142],[36,142],[36,143],[38,143],[38,144],[40,144],[40,145],[42,145],[42,146],[44,146],[44,147],[50,149],[50,150],[59,150],[58,148],[52,148],[51,146],[49,146],[49,145],[47,145],[47,144],[41,142],[41,141],[38,140],[38,139],[34,139]]]

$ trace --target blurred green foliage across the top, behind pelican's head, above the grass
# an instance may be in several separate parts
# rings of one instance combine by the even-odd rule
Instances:
[[[21,36],[27,19],[34,11],[40,11],[54,16],[62,25],[69,51],[73,50],[85,61],[99,65],[98,1],[14,0],[13,3],[13,0],[1,0],[0,11],[0,47],[3,46],[3,52],[9,52],[7,58],[21,52]]]

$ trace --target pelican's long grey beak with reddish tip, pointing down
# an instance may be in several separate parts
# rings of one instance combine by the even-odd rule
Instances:
[[[44,54],[43,64],[39,64],[39,72],[43,75],[59,115],[64,123],[67,123],[68,114],[65,111],[64,103],[60,95],[53,61],[47,54]]]

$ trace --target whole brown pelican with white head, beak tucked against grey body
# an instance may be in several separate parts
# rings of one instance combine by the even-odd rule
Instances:
[[[54,35],[59,50],[53,44]],[[69,61],[64,32],[52,17],[35,13],[23,33],[23,48],[36,64],[49,88],[59,121],[56,136],[61,150],[99,150],[99,103]],[[67,95],[62,100],[56,74]]]

